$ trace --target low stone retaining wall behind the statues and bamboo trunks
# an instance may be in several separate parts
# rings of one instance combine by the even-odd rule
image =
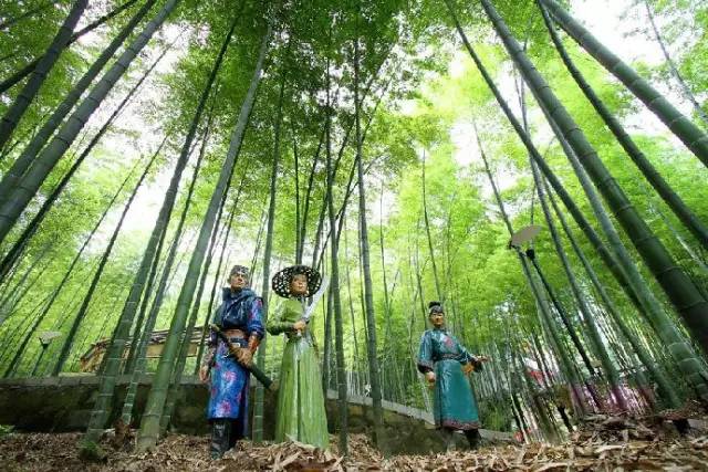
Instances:
[[[152,375],[140,379],[135,399],[134,426],[139,424],[145,407]],[[122,405],[129,376],[121,376],[116,382],[116,395]],[[13,424],[23,431],[81,431],[85,429],[91,408],[95,401],[98,378],[93,375],[20,378],[0,380],[0,424]],[[252,398],[252,396],[251,396]],[[207,388],[194,376],[183,379],[179,398],[173,415],[173,430],[188,434],[206,434],[209,426],[205,420],[208,400]],[[350,397],[350,432],[368,432],[372,418],[372,400],[368,397]],[[252,409],[251,409],[252,411]],[[329,429],[336,429],[336,392],[327,391],[326,411]],[[275,395],[266,392],[263,432],[266,439],[273,437]],[[116,407],[112,420],[119,415]],[[428,453],[442,450],[442,442],[431,424],[431,416],[423,410],[384,401],[384,448],[389,453]],[[511,434],[481,430],[482,438],[510,440]]]

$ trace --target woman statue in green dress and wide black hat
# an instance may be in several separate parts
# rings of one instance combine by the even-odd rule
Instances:
[[[293,265],[278,272],[273,292],[285,300],[269,316],[267,329],[285,334],[278,392],[275,441],[299,441],[326,449],[330,443],[322,392],[320,364],[308,328],[306,297],[320,287],[320,274],[306,265]]]

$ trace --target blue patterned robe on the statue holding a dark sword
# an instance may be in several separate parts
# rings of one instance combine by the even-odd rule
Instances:
[[[249,289],[239,292],[223,290],[223,302],[214,315],[212,323],[221,329],[241,329],[246,338],[232,338],[231,342],[246,347],[248,337],[256,334],[263,337],[264,328],[261,319],[263,302]],[[229,349],[221,339],[211,333],[209,346],[216,347],[210,382],[207,418],[229,418],[237,420],[238,436],[248,432],[248,389],[250,373],[229,355]]]

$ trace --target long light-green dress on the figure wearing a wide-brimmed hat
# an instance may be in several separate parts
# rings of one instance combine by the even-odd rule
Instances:
[[[298,336],[292,325],[302,318],[305,305],[296,297],[283,300],[268,319],[268,332],[284,333],[278,390],[275,441],[299,441],[326,449],[330,444],[327,417],[324,410],[322,376],[312,335],[308,329]]]

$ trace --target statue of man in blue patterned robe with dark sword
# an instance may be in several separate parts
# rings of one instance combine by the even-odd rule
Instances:
[[[235,265],[229,285],[223,289],[221,306],[212,324],[223,337],[211,332],[208,352],[204,357],[199,378],[209,384],[207,418],[211,422],[211,458],[219,459],[248,433],[248,392],[253,354],[264,335],[262,300],[248,289],[249,270]],[[229,352],[226,339],[240,348],[238,356]]]

